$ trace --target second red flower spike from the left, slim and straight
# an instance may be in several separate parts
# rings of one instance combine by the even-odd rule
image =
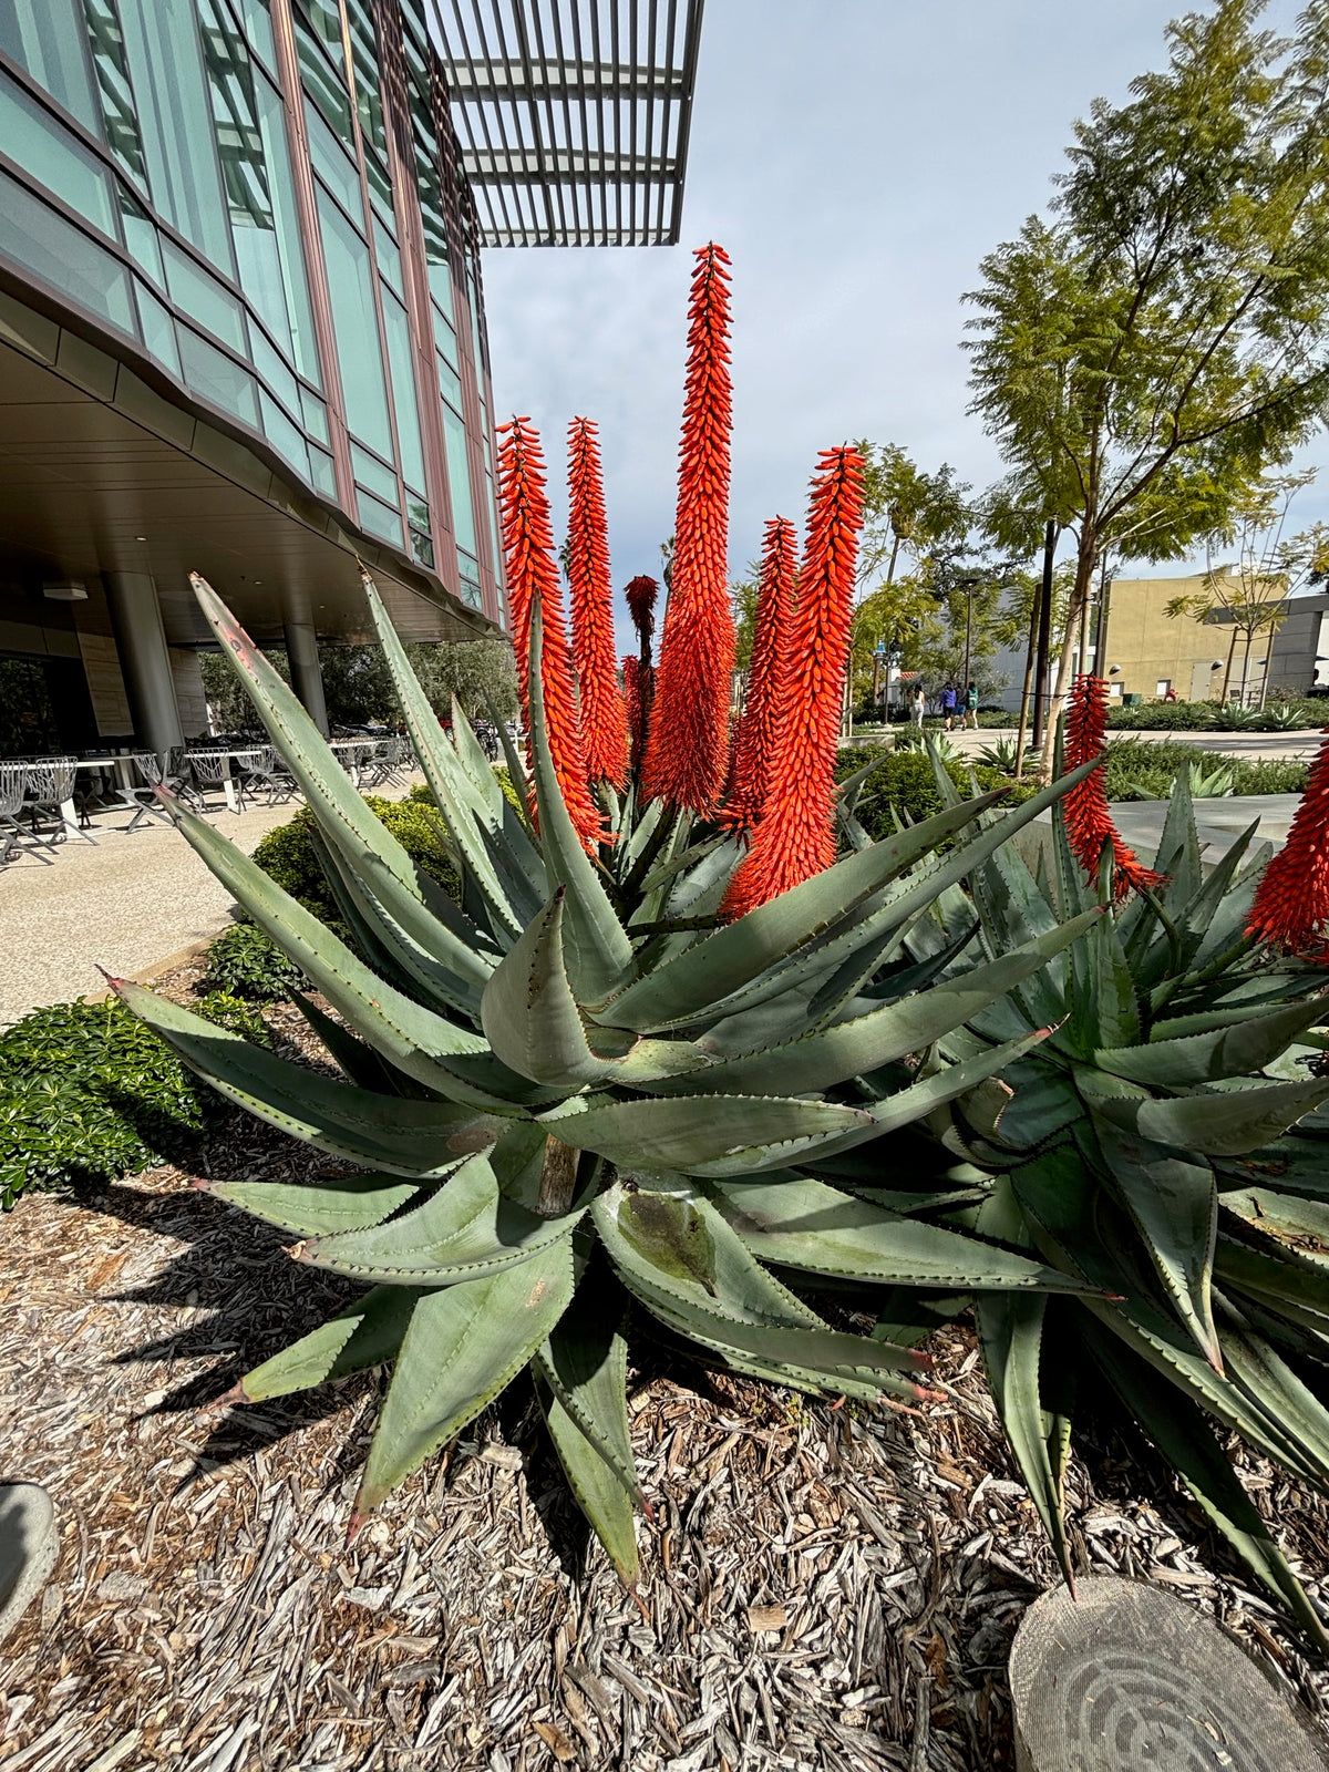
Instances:
[[[572,663],[581,691],[581,742],[592,781],[627,783],[627,716],[618,693],[604,482],[595,425],[567,427],[567,581],[572,592]]]

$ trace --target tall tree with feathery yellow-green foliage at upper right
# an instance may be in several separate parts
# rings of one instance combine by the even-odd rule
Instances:
[[[1076,537],[1058,705],[1104,553],[1214,533],[1325,411],[1329,0],[1295,39],[1258,30],[1262,11],[1175,19],[1168,67],[1093,105],[1053,218],[968,296],[971,409]]]

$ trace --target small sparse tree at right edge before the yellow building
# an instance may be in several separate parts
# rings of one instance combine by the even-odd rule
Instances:
[[[1187,597],[1173,597],[1168,615],[1209,620],[1230,627],[1228,657],[1223,670],[1223,700],[1232,693],[1232,666],[1237,640],[1246,641],[1242,652],[1240,705],[1249,698],[1251,649],[1258,636],[1272,645],[1274,634],[1286,620],[1286,599],[1329,569],[1329,532],[1317,523],[1301,535],[1285,535],[1288,512],[1297,493],[1315,480],[1315,470],[1304,473],[1265,475],[1258,486],[1242,494],[1232,509],[1230,521],[1210,537],[1209,565],[1201,590]],[[1235,548],[1237,558],[1223,565],[1212,563],[1214,544]],[[1269,693],[1269,668],[1260,680],[1260,707]]]

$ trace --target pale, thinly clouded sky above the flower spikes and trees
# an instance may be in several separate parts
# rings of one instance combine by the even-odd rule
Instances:
[[[494,411],[540,429],[556,535],[567,422],[585,415],[601,427],[615,585],[659,576],[691,248],[707,239],[734,260],[732,574],[767,517],[801,528],[820,448],[865,436],[975,487],[994,480],[996,450],[966,413],[962,296],[1047,206],[1076,117],[1166,64],[1178,11],[707,0],[680,245],[484,255]],[[1286,30],[1295,11],[1272,0],[1265,21]],[[1304,494],[1302,514],[1329,517],[1329,491]]]

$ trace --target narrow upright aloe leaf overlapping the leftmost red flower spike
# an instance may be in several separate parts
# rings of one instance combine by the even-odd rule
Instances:
[[[627,976],[633,966],[633,943],[610,904],[599,868],[581,847],[555,774],[544,721],[540,679],[544,638],[539,601],[532,610],[530,626],[530,737],[544,859],[549,884],[567,888],[569,971],[576,998],[579,1003],[602,1003]]]

